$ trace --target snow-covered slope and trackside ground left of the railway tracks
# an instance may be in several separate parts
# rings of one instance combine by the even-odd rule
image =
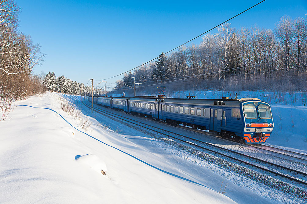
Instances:
[[[85,132],[60,97],[79,99],[32,96],[0,122],[0,203],[303,203],[80,105]]]

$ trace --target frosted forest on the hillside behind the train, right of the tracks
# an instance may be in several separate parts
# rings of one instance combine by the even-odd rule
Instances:
[[[283,16],[274,30],[232,28],[226,23],[199,45],[180,47],[125,74],[115,89],[306,91],[307,19]],[[128,86],[126,86],[126,85]],[[132,90],[130,90],[132,91]]]

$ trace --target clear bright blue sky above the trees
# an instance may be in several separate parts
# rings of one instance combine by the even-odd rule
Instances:
[[[85,85],[88,79],[109,78],[158,57],[260,2],[15,1],[22,8],[19,30],[31,35],[46,54],[34,72],[54,71]],[[306,13],[307,0],[266,0],[229,23],[274,29],[283,15],[296,18]]]

